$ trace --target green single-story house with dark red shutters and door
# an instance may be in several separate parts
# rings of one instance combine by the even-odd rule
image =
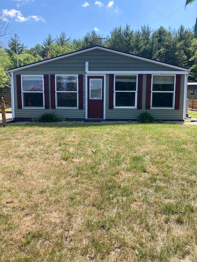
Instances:
[[[46,54],[46,58],[49,54]],[[94,46],[12,68],[13,120],[184,120],[189,69]]]

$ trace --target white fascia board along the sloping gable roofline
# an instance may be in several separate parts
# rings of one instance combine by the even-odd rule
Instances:
[[[154,63],[154,64],[163,65],[163,66],[167,66],[167,67],[170,67],[170,68],[174,68],[174,69],[178,69],[178,70],[182,70],[182,71],[186,71],[186,72],[191,71],[191,69],[182,68],[182,67],[175,66],[175,65],[168,65],[168,64],[165,64],[165,63],[162,63],[162,62],[159,62],[159,61],[155,61],[155,60],[151,60],[151,59],[148,59],[148,58],[138,57],[138,56],[135,56],[135,55],[132,55],[132,54],[122,53],[121,51],[115,51],[115,50],[107,49],[107,48],[104,48],[104,47],[95,46],[95,47],[91,47],[91,48],[86,49],[86,50],[76,51],[76,52],[69,53],[69,54],[66,54],[66,55],[63,55],[63,56],[60,56],[60,57],[54,57],[54,58],[46,59],[46,60],[40,61],[38,63],[35,63],[33,65],[24,65],[20,68],[10,69],[10,70],[8,70],[8,72],[15,72],[15,71],[25,69],[25,68],[30,68],[30,67],[33,67],[33,66],[36,66],[36,65],[42,65],[44,63],[49,63],[50,61],[59,60],[59,59],[65,58],[65,57],[71,57],[71,56],[74,56],[76,54],[85,53],[85,52],[92,51],[92,50],[95,50],[95,49],[100,49],[100,50],[108,51],[108,52],[111,52],[111,53],[116,53],[116,54],[124,55],[124,56],[127,56],[127,57],[136,58],[136,59],[139,59],[139,60],[142,60],[142,61],[147,61],[147,62],[151,62],[151,63]]]

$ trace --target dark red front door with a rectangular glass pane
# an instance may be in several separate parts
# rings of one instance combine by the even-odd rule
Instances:
[[[87,117],[103,119],[104,76],[88,76]]]

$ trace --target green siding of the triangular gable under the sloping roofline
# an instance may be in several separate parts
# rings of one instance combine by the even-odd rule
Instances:
[[[100,70],[166,70],[178,71],[165,65],[158,65],[154,62],[143,61],[138,58],[128,57],[126,55],[115,54],[105,50],[92,50],[80,54],[75,54],[70,57],[61,58],[55,61],[48,61],[42,65],[34,65],[30,68],[20,70],[21,73],[25,72],[52,72],[52,73],[65,73],[77,72],[78,74],[85,73],[85,62],[89,62],[90,71]]]

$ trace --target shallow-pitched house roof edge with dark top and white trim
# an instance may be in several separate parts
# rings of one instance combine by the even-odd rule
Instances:
[[[46,60],[34,62],[34,63],[28,64],[28,65],[19,66],[19,67],[16,67],[16,68],[11,68],[11,69],[8,70],[8,72],[14,72],[14,71],[18,71],[20,69],[29,68],[29,67],[33,67],[33,66],[36,66],[36,65],[49,63],[50,61],[55,61],[55,60],[58,60],[58,59],[70,57],[70,56],[73,56],[73,55],[79,54],[79,53],[85,53],[85,52],[88,52],[90,50],[95,50],[95,49],[106,50],[108,52],[125,55],[125,56],[128,56],[128,57],[140,59],[140,60],[143,60],[143,61],[148,61],[148,62],[152,62],[152,63],[159,64],[159,65],[165,65],[165,66],[168,66],[168,67],[171,67],[171,68],[174,68],[174,69],[179,69],[179,70],[183,70],[183,71],[190,71],[190,69],[188,69],[188,68],[179,67],[179,66],[176,66],[176,65],[171,65],[171,64],[168,64],[168,63],[164,63],[164,62],[154,60],[154,59],[149,59],[149,58],[146,58],[146,57],[137,56],[137,55],[134,55],[134,54],[131,54],[131,53],[126,53],[126,52],[118,51],[118,50],[115,50],[115,49],[110,49],[110,48],[103,47],[103,46],[100,46],[100,45],[95,45],[93,47],[81,49],[81,50],[74,51],[74,52],[71,52],[71,53],[68,53],[68,54],[65,54],[65,55],[60,55],[60,56],[52,57],[52,58],[49,58],[49,59],[46,59]]]

